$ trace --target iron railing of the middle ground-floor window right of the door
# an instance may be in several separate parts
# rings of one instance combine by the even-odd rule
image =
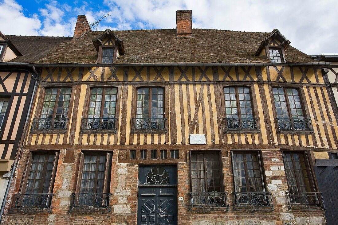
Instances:
[[[233,192],[234,210],[273,210],[271,192]]]

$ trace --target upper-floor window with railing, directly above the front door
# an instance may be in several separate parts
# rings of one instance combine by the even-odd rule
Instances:
[[[136,118],[133,119],[133,132],[141,129],[147,132],[166,132],[163,102],[163,88],[138,88]]]

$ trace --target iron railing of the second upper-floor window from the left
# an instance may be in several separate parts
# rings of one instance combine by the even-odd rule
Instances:
[[[83,133],[116,133],[117,118],[83,118]]]

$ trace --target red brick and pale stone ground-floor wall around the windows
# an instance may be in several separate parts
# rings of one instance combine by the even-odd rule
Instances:
[[[10,198],[6,204],[3,224],[19,225],[59,225],[59,224],[101,224],[101,225],[136,225],[138,196],[138,164],[117,164],[118,150],[113,151],[110,192],[112,193],[110,213],[69,213],[71,193],[76,190],[76,180],[79,167],[80,150],[74,151],[74,163],[64,164],[65,149],[60,150],[56,178],[53,188],[55,196],[52,201],[51,214],[8,214]],[[321,210],[288,211],[285,192],[288,190],[280,150],[262,150],[264,174],[267,191],[272,192],[274,210],[272,212],[255,213],[234,211],[232,192],[234,191],[231,152],[223,154],[224,191],[228,192],[229,211],[211,211],[201,213],[189,211],[190,167],[189,154],[187,163],[177,164],[178,176],[178,224],[184,225],[323,225]],[[23,171],[26,166],[29,151],[24,150],[19,162],[16,177],[13,180],[9,196],[18,193]]]

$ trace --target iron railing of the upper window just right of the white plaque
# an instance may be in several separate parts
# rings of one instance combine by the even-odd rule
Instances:
[[[259,131],[258,118],[224,118],[225,131]]]

